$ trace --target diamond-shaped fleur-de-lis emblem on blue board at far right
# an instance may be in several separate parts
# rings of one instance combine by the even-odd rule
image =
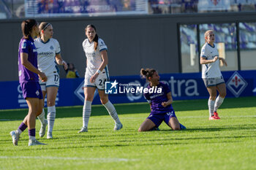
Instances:
[[[248,83],[246,82],[246,80],[244,80],[244,78],[241,77],[238,72],[234,72],[234,74],[227,81],[227,88],[237,98],[241,95],[247,85]]]

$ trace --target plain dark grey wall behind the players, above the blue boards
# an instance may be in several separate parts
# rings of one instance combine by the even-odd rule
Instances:
[[[140,15],[99,18],[39,18],[53,24],[53,37],[59,40],[65,61],[75,63],[84,76],[86,58],[82,42],[89,23],[108,45],[111,76],[139,74],[143,67],[161,73],[181,71],[178,55],[178,23],[255,22],[256,12],[229,12],[196,15]],[[22,20],[0,20],[0,81],[18,80],[18,42]],[[61,77],[65,76],[61,69]]]

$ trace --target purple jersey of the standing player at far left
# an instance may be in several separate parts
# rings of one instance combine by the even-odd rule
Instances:
[[[37,48],[34,46],[34,39],[29,36],[29,39],[20,39],[19,51],[18,51],[18,75],[21,82],[38,82],[38,75],[34,72],[26,69],[25,66],[21,64],[20,53],[28,54],[28,61],[37,68]]]

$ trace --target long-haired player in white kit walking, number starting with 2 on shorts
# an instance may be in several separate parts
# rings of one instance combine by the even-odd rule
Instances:
[[[86,74],[84,79],[83,128],[78,133],[88,131],[89,117],[91,116],[91,102],[94,99],[96,88],[100,101],[115,121],[114,130],[120,130],[121,124],[116,109],[105,94],[105,81],[109,81],[107,46],[99,38],[94,25],[86,26],[87,39],[83,41],[83,50],[86,53]]]

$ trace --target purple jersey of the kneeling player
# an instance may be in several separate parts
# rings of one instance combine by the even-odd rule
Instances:
[[[150,89],[150,85],[147,87]],[[152,114],[165,114],[173,111],[173,106],[170,104],[167,107],[162,106],[163,101],[168,101],[167,93],[170,93],[170,88],[165,82],[159,82],[157,89],[162,88],[162,93],[144,93],[144,97],[151,104]]]

